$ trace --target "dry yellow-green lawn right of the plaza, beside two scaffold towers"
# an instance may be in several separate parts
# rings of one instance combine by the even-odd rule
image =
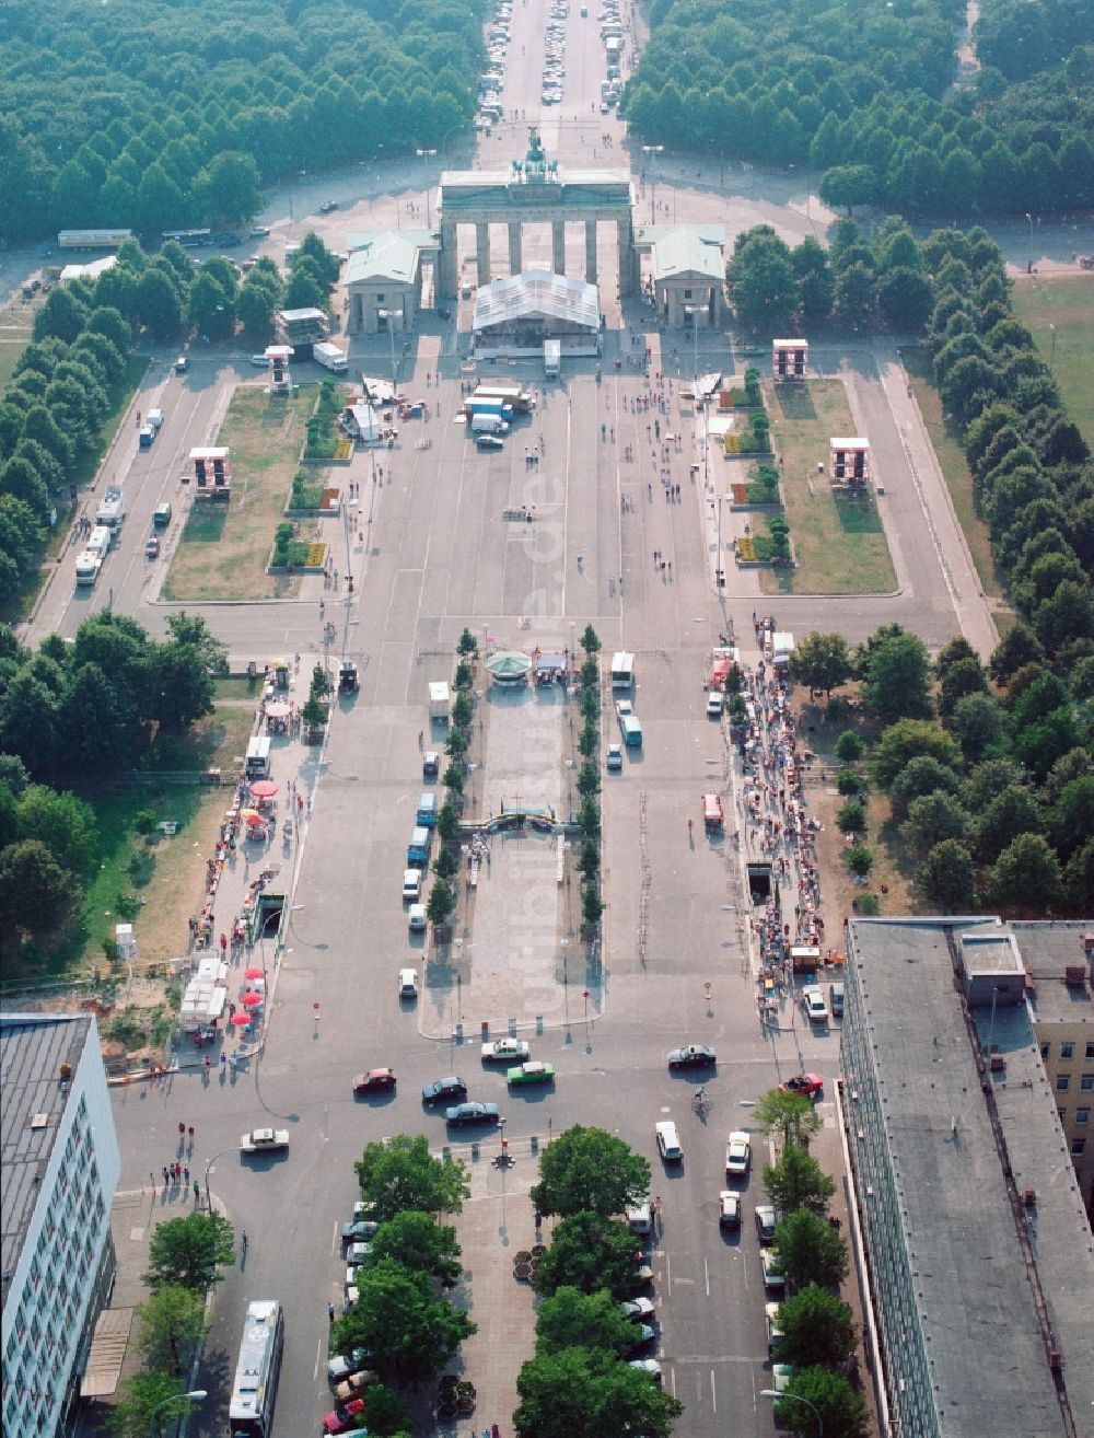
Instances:
[[[877,505],[835,498],[828,487],[828,440],[854,433],[842,383],[809,380],[804,388],[765,390],[772,443],[785,462],[782,498],[796,568],[760,569],[762,592],[890,592],[897,578]],[[817,472],[818,463],[824,463],[824,475]]]

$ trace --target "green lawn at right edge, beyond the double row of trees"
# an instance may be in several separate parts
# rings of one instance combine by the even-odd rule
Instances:
[[[1011,292],[1015,319],[1036,341],[1082,439],[1094,447],[1094,275],[1022,275]],[[1052,344],[1055,326],[1055,345]],[[1054,352],[1055,351],[1055,352]]]

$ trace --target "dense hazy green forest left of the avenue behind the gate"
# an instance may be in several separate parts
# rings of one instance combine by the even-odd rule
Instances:
[[[474,109],[484,9],[131,0],[118,26],[96,0],[47,24],[10,0],[0,239],[239,224],[262,184],[440,148]]]

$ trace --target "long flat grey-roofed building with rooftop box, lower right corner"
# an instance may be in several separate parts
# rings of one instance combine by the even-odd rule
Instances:
[[[894,1435],[1064,1438],[1094,1414],[1094,1244],[1028,1002],[1038,928],[848,923],[850,1211]],[[1055,928],[1078,948],[1084,926]]]

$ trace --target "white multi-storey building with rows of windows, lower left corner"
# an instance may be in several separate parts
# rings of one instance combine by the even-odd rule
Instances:
[[[116,1268],[121,1155],[92,1015],[0,1017],[3,1429],[72,1425],[95,1320]]]

